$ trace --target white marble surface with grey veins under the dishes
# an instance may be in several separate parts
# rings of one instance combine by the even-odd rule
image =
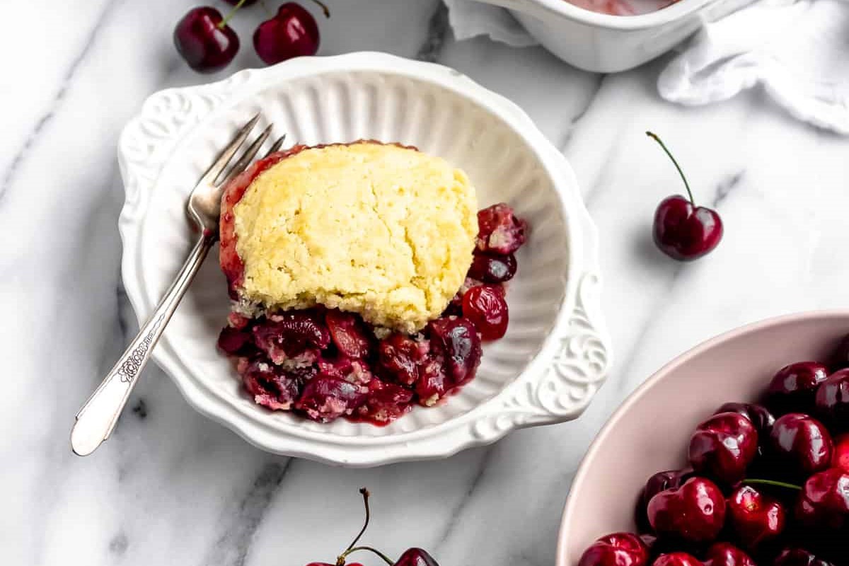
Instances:
[[[438,0],[335,0],[322,53],[378,49],[453,65],[513,98],[571,160],[603,235],[617,360],[609,383],[574,423],[446,462],[351,471],[257,451],[195,414],[151,368],[113,438],[74,457],[74,413],[135,326],[119,274],[116,138],[151,92],[209,77],[171,45],[190,0],[7,4],[0,563],[330,560],[357,530],[357,487],[368,485],[368,541],[391,555],[424,546],[442,566],[550,564],[571,477],[628,391],[715,333],[849,303],[849,139],[797,123],[761,92],[703,109],[664,103],[655,92],[662,60],[594,76],[538,48],[453,42]],[[235,26],[250,37],[260,19],[254,9]],[[230,70],[258,64],[244,47]],[[647,128],[666,137],[697,198],[726,222],[703,261],[679,265],[650,244],[654,207],[679,185]]]

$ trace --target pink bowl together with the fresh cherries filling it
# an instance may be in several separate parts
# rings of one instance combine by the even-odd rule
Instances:
[[[604,426],[559,566],[849,565],[849,311],[679,356]]]

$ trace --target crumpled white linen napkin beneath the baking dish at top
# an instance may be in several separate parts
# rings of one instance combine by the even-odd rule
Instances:
[[[536,42],[506,10],[444,0],[455,36]],[[711,104],[763,85],[799,120],[849,135],[849,3],[762,0],[706,24],[661,72],[661,97]]]

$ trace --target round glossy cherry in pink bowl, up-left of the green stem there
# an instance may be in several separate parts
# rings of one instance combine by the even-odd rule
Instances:
[[[689,462],[700,474],[733,485],[757,455],[757,430],[736,412],[722,412],[701,423],[690,438]]]

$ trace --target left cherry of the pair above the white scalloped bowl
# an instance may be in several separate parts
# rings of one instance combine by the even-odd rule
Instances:
[[[239,51],[239,36],[216,8],[192,8],[174,28],[174,45],[188,66],[200,73],[222,70]]]

